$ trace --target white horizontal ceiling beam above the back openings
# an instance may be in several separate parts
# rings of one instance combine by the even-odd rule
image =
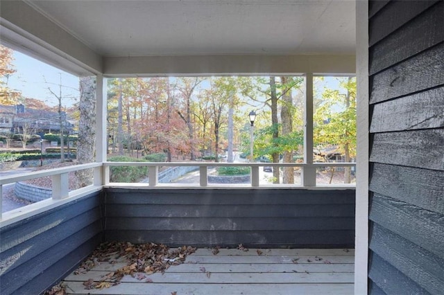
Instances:
[[[197,55],[104,57],[103,75],[224,75],[356,72],[355,55]]]

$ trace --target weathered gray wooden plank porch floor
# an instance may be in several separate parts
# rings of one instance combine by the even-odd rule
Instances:
[[[68,294],[353,294],[355,251],[345,249],[198,249],[182,265],[138,280],[85,289],[83,282],[100,280],[127,265],[102,262],[86,274],[65,278]],[[260,253],[260,252],[259,252]],[[176,292],[176,293],[175,293]]]

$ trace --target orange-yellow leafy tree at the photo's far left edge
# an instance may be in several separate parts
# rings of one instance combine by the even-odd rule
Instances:
[[[21,94],[20,91],[8,87],[8,79],[15,73],[12,52],[12,49],[0,45],[0,105],[15,105]]]

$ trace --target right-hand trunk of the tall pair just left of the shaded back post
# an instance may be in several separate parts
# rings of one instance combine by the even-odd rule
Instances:
[[[284,85],[287,84],[287,77],[281,77],[282,91],[284,91]],[[282,132],[281,136],[286,136],[293,132],[293,116],[291,110],[293,109],[293,98],[291,97],[291,91],[287,91],[282,96],[282,109],[280,110],[280,118],[282,120]],[[284,151],[284,163],[293,162],[293,150]],[[282,182],[284,184],[294,184],[294,167],[284,167],[284,175]]]

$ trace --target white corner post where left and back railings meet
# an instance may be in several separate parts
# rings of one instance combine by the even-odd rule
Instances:
[[[96,76],[96,162],[106,161],[108,149],[108,134],[106,131],[106,112],[107,112],[107,89],[108,84],[103,75]],[[106,173],[105,170],[108,170]],[[94,185],[101,186],[108,184],[109,167],[94,169]]]

